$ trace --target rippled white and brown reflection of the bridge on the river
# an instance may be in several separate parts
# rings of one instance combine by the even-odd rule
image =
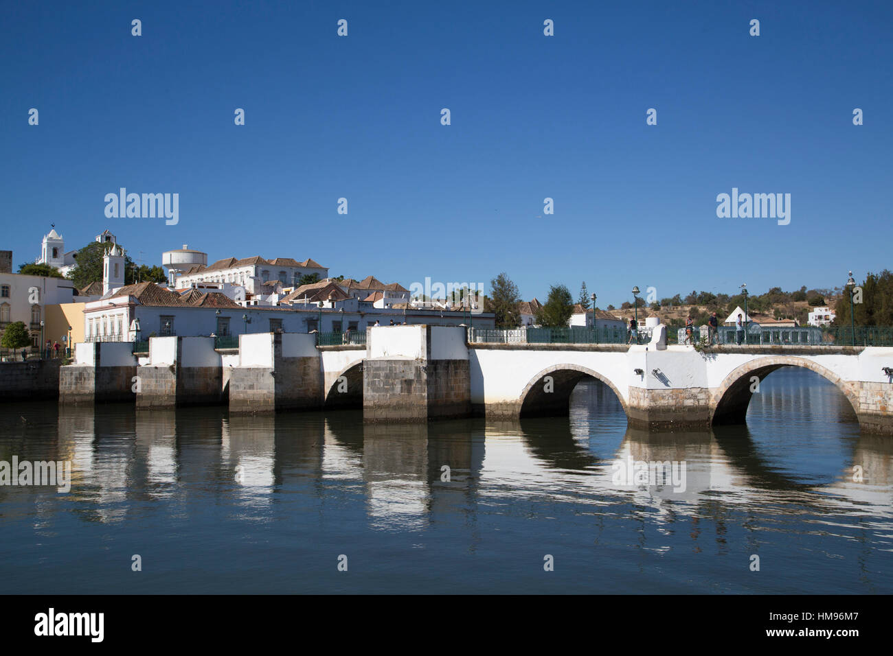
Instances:
[[[79,516],[104,522],[124,519],[140,499],[182,499],[185,508],[188,494],[228,494],[247,517],[263,519],[279,494],[296,488],[313,507],[361,503],[370,526],[381,528],[423,527],[441,512],[473,515],[498,499],[548,499],[580,511],[622,504],[651,509],[658,521],[773,500],[816,513],[893,516],[893,443],[880,436],[855,438],[838,476],[816,485],[779,469],[746,427],[662,435],[620,428],[613,443],[590,448],[569,419],[397,427],[358,419],[350,411],[227,419],[211,408],[61,408],[57,444],[25,441],[20,458],[72,461],[71,494],[51,496],[38,514],[70,502]],[[627,459],[685,462],[684,489],[616,483],[613,461]],[[853,465],[862,468],[861,482]]]

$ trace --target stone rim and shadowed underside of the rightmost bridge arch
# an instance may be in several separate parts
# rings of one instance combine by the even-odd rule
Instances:
[[[754,395],[751,391],[753,385],[752,378],[756,377],[758,381],[762,381],[772,371],[781,367],[800,367],[814,371],[822,378],[829,380],[847,397],[847,401],[853,408],[853,413],[858,416],[858,395],[851,386],[847,385],[844,380],[831,370],[822,367],[821,364],[816,364],[814,361],[794,355],[767,356],[742,364],[726,376],[714,396],[717,401],[710,410],[710,425],[723,426],[745,423],[747,406],[750,405],[750,399]]]

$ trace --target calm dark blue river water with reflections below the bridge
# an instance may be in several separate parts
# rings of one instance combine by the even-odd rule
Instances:
[[[0,486],[3,594],[893,592],[893,439],[807,370],[711,433],[595,381],[521,423],[4,404],[13,456],[72,481]],[[676,480],[625,479],[651,461]]]

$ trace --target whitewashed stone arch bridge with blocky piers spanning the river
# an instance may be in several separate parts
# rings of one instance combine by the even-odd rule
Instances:
[[[464,328],[394,326],[368,328],[365,346],[258,333],[231,350],[215,350],[211,337],[153,337],[147,355],[131,351],[77,345],[76,363],[61,368],[60,403],[226,403],[233,414],[362,407],[369,422],[517,419],[567,414],[574,386],[595,378],[630,427],[703,430],[744,423],[759,382],[795,366],[838,386],[864,430],[893,435],[886,347],[468,344]]]

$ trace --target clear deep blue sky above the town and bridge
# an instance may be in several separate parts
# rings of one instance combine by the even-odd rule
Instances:
[[[861,280],[891,263],[893,4],[778,5],[4,3],[0,248],[18,267],[50,223],[66,248],[109,228],[146,263],[505,271],[602,307]],[[119,187],[179,193],[179,224],[106,219]],[[717,218],[732,187],[789,193],[790,224]]]

